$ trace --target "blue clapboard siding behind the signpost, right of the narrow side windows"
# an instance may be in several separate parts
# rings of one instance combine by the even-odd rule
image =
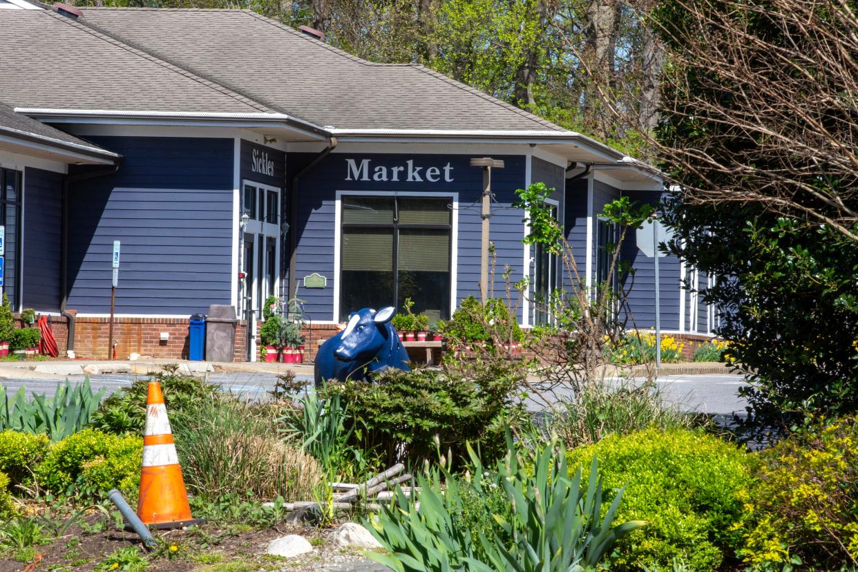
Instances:
[[[659,191],[623,191],[632,201],[657,204],[662,197]],[[635,274],[625,281],[629,289],[628,301],[631,310],[628,326],[653,328],[656,325],[654,259],[637,248],[635,232],[629,232],[623,243],[620,256],[631,262]],[[673,255],[658,260],[660,282],[660,304],[662,329],[680,328],[680,259]]]

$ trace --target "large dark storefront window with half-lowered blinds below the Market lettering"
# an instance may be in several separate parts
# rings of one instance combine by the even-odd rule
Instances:
[[[340,320],[405,298],[431,322],[450,317],[450,198],[342,197]]]

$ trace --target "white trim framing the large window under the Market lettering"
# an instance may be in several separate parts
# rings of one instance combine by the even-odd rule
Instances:
[[[457,192],[418,192],[404,190],[337,190],[334,202],[334,311],[331,322],[336,323],[340,316],[340,243],[342,240],[342,197],[343,196],[421,196],[449,198],[453,208],[450,223],[450,316],[456,311],[458,301],[458,262],[459,262],[459,193]],[[398,310],[398,309],[397,309]],[[315,321],[314,323],[325,323]]]

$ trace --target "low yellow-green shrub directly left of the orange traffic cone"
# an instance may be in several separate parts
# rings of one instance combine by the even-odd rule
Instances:
[[[133,491],[139,483],[142,443],[142,437],[85,429],[51,445],[36,467],[36,481],[54,494],[93,495],[114,487]]]

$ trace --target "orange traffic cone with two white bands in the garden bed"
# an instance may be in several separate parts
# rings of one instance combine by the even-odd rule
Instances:
[[[186,527],[202,522],[190,515],[184,491],[182,467],[178,466],[170,419],[159,382],[149,382],[146,432],[143,434],[143,466],[137,516],[154,528]]]

